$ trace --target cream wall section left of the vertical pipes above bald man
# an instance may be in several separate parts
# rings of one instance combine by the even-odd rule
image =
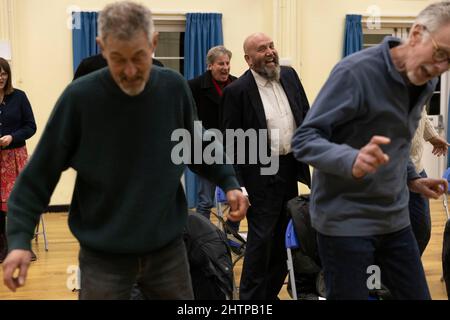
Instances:
[[[67,8],[99,10],[108,0],[14,0],[18,31],[14,52],[15,83],[26,91],[38,125],[37,134],[29,140],[33,151],[50,112],[63,89],[71,81],[72,37],[67,25]],[[141,1],[158,12],[221,12],[224,42],[234,52],[232,72],[240,75],[246,69],[242,43],[256,31],[270,33],[272,0],[153,0]],[[113,128],[112,128],[113,129]],[[58,152],[55,150],[54,152]],[[68,171],[54,192],[51,204],[70,203],[75,174]]]

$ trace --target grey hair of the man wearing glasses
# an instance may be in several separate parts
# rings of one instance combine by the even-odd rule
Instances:
[[[436,32],[442,26],[450,24],[450,1],[430,4],[416,18],[414,25],[423,25],[431,32]]]

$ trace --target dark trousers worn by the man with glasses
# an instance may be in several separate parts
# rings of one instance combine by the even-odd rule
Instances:
[[[393,299],[430,300],[411,227],[377,236],[334,237],[318,233],[327,299],[368,300],[373,270]]]

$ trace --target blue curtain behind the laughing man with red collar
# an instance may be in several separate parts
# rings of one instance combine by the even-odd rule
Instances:
[[[198,77],[206,71],[206,54],[214,46],[223,44],[222,14],[188,13],[184,38],[184,77]],[[186,196],[189,208],[197,206],[195,174],[185,172]]]

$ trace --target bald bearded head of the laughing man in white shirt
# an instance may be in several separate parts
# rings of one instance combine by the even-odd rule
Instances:
[[[258,32],[244,41],[245,61],[250,69],[268,80],[279,80],[280,64],[273,40]]]

